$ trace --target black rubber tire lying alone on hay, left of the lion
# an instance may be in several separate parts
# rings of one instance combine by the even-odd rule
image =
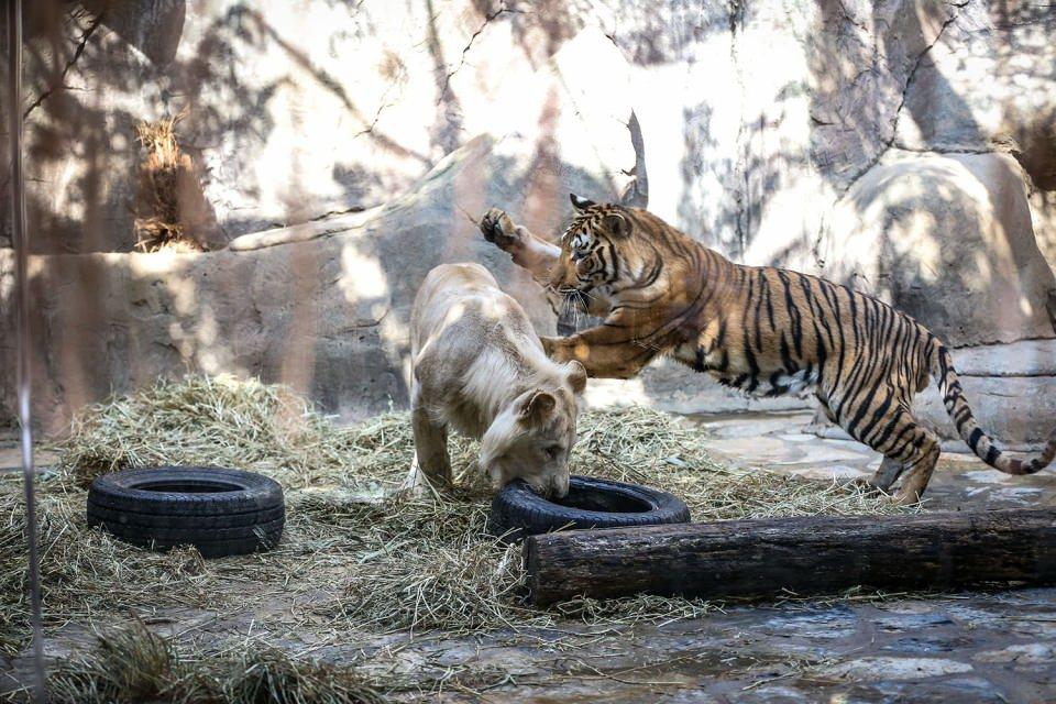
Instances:
[[[278,544],[285,522],[278,483],[241,470],[127,470],[88,488],[89,526],[152,550],[194,546],[204,558],[260,552]]]

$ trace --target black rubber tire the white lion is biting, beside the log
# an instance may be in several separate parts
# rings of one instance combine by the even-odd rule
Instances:
[[[564,529],[624,528],[685,524],[690,509],[678,496],[636,484],[590,476],[569,480],[568,503],[595,504],[588,510],[549,502],[521,481],[504,486],[492,499],[488,531],[507,541]],[[624,510],[612,510],[623,504]],[[632,507],[634,510],[628,510]],[[605,510],[609,508],[609,510]]]

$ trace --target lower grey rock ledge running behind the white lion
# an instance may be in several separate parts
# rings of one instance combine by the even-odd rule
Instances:
[[[484,241],[466,212],[503,199],[527,211],[559,183],[606,186],[559,168],[544,150],[526,167],[502,146],[474,141],[384,208],[246,235],[229,250],[34,258],[34,346],[42,351],[34,413],[43,429],[62,432],[74,409],[111,391],[188,371],[282,382],[346,417],[403,407],[410,302],[442,262],[484,263],[552,332],[538,285]],[[273,234],[300,241],[253,249],[254,239]],[[0,274],[9,271],[0,261]],[[7,340],[0,352],[13,359]]]

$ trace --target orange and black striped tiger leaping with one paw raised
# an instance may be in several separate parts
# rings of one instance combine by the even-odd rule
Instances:
[[[811,389],[824,413],[883,455],[872,484],[920,501],[935,464],[936,436],[911,413],[933,377],[960,437],[987,464],[1031,474],[1056,455],[1056,431],[1031,461],[1004,455],[979,428],[949,351],[891,306],[816,276],[741,266],[638,209],[572,196],[575,218],[560,246],[498,209],[485,238],[551,292],[605,315],[597,327],[543,338],[558,362],[627,378],[661,354],[748,394]]]

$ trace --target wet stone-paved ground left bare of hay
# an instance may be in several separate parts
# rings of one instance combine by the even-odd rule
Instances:
[[[713,454],[732,464],[837,479],[868,476],[878,466],[862,446],[806,433],[810,419],[802,413],[695,418]],[[0,466],[13,464],[10,454],[9,446]],[[1056,472],[1007,476],[971,455],[946,453],[926,498],[933,509],[1056,506]],[[243,625],[205,612],[172,616],[174,630],[200,622],[205,638]],[[789,601],[667,624],[570,622],[450,640],[393,634],[320,648],[297,638],[292,634],[285,647],[336,660],[365,656],[367,663],[372,653],[385,653],[389,671],[395,657],[407,673],[450,676],[446,692],[429,701],[1056,702],[1056,588]]]

